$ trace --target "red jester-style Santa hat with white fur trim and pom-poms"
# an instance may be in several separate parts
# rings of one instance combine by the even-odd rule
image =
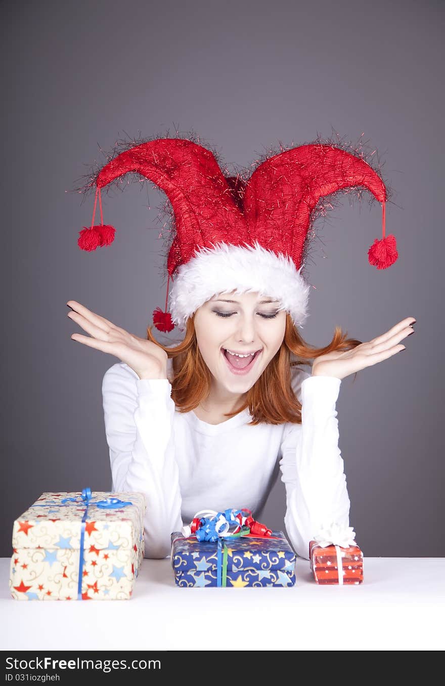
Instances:
[[[310,290],[301,274],[309,230],[320,200],[337,191],[364,188],[381,202],[383,237],[368,251],[370,264],[385,269],[398,257],[395,237],[385,236],[383,180],[362,155],[339,145],[318,140],[282,150],[258,161],[250,178],[225,176],[216,153],[188,138],[132,145],[82,189],[95,188],[91,227],[84,227],[77,241],[82,250],[114,240],[115,228],[103,222],[101,189],[127,174],[152,181],[171,204],[165,310],[158,307],[153,314],[159,331],[172,331],[175,325],[184,331],[206,300],[232,291],[279,300],[280,309],[301,326]],[[98,198],[101,224],[94,226]]]

